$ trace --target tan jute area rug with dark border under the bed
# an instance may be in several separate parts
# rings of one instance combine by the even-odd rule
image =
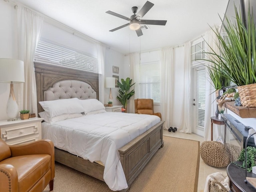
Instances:
[[[134,180],[130,192],[197,192],[200,143],[164,136],[160,148]],[[112,192],[91,176],[55,164],[53,192]],[[49,192],[47,186],[44,192]]]

